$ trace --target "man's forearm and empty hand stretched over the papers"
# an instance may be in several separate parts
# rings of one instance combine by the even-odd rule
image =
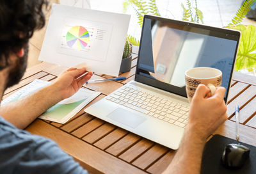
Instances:
[[[42,90],[0,107],[0,115],[16,127],[24,129],[54,104],[74,95],[92,77],[92,72],[79,77],[85,72],[85,68],[69,68],[54,83]]]

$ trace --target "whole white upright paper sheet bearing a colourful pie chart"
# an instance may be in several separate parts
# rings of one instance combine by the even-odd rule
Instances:
[[[52,4],[39,59],[118,76],[130,15]]]

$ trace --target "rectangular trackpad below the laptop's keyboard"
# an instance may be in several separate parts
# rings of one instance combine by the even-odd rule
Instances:
[[[110,113],[107,117],[134,129],[141,123],[145,122],[145,120],[147,120],[143,116],[136,115],[119,107]]]

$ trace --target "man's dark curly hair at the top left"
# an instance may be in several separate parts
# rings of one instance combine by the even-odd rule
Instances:
[[[35,29],[45,24],[47,0],[0,0],[0,70],[8,56],[28,44]]]

